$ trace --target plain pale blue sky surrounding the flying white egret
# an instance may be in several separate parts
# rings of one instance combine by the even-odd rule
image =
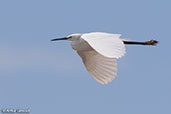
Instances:
[[[170,0],[1,0],[0,110],[31,114],[171,114]],[[158,46],[126,46],[101,85],[69,41],[93,31]],[[0,112],[1,113],[1,112]]]

